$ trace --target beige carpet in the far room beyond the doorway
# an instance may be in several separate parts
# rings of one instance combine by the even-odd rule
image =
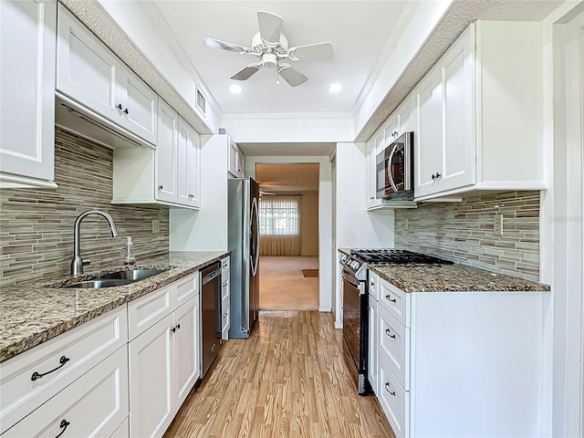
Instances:
[[[259,308],[318,309],[318,277],[305,277],[303,269],[318,269],[318,257],[260,257]]]

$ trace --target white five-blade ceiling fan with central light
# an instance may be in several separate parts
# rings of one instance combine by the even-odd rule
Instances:
[[[288,47],[287,37],[282,34],[284,19],[271,12],[257,11],[257,24],[259,32],[252,38],[251,47],[214,38],[203,39],[206,47],[221,48],[242,55],[254,55],[259,59],[258,62],[239,70],[231,77],[232,79],[246,80],[262,68],[276,68],[276,84],[280,83],[281,76],[291,87],[297,87],[305,83],[308,78],[290,64],[281,62],[282,60],[287,58],[293,61],[325,61],[332,59],[335,55],[332,43],[328,42]]]

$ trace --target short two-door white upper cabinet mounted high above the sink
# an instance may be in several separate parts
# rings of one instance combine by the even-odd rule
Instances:
[[[158,96],[63,5],[58,7],[57,90],[90,117],[102,116],[156,145]]]

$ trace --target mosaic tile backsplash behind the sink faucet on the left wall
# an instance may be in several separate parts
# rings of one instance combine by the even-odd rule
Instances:
[[[112,205],[113,153],[68,132],[55,132],[57,189],[0,190],[0,287],[69,274],[73,224],[78,214],[98,209],[111,214],[118,237],[106,220],[89,216],[81,223],[81,255],[99,258],[86,270],[123,262],[126,236],[138,263],[169,249],[169,210],[150,205]],[[161,232],[152,234],[152,220]]]

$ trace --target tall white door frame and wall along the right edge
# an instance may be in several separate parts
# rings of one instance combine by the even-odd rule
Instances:
[[[544,314],[543,436],[576,437],[584,432],[582,115],[567,110],[567,96],[580,102],[582,96],[577,98],[578,91],[567,87],[564,28],[564,23],[583,10],[584,2],[568,0],[543,21],[544,177],[548,190],[542,193],[539,247],[541,281],[551,285],[552,291]],[[572,66],[578,77],[579,68]],[[570,116],[579,117],[580,124],[572,143],[568,143]]]

